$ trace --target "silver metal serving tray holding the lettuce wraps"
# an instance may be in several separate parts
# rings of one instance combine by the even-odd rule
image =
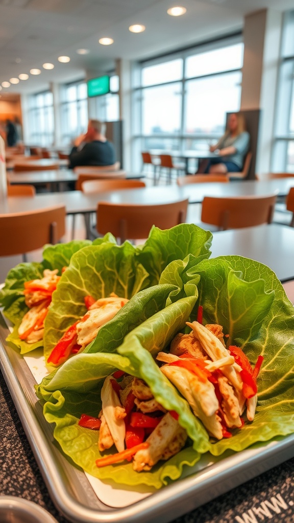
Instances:
[[[165,523],[294,456],[294,435],[256,445],[214,463],[204,456],[194,469],[187,468],[187,477],[125,508],[109,507],[95,494],[85,473],[67,461],[54,444],[53,428],[44,419],[34,392],[36,381],[24,358],[7,346],[8,332],[0,315],[3,376],[52,500],[73,523]],[[115,490],[113,493],[115,496]]]

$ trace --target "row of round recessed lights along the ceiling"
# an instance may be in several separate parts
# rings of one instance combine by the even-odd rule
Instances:
[[[186,7],[176,6],[176,7],[171,7],[170,9],[167,9],[167,14],[171,15],[171,16],[181,16],[181,15],[184,15],[186,13],[186,11],[187,11]],[[145,26],[143,26],[141,24],[134,24],[129,27],[129,31],[134,32],[134,33],[143,32],[143,31],[145,31],[145,29],[146,29]],[[99,43],[103,46],[110,46],[112,43],[114,43],[114,40],[112,38],[104,37],[104,38],[99,39]],[[88,49],[77,49],[76,52],[78,54],[88,54],[90,51]],[[70,62],[70,60],[71,59],[69,56],[59,56],[58,57],[58,61],[61,63],[67,63],[67,62]],[[54,69],[54,64],[44,63],[43,69],[47,69],[47,70]],[[40,69],[31,69],[30,74],[33,74],[33,75],[41,74],[41,70]],[[21,73],[18,76],[18,78],[10,78],[9,82],[2,82],[1,86],[7,88],[7,87],[10,87],[11,84],[18,84],[19,80],[27,80],[28,78],[29,78],[28,74]],[[0,86],[0,90],[2,89],[1,86]]]

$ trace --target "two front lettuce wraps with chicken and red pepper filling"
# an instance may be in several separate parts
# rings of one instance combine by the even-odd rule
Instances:
[[[167,281],[174,282],[173,291],[165,289],[165,306],[142,314],[119,343],[122,322],[112,323],[113,331],[101,327],[89,349],[38,386],[63,452],[101,479],[159,488],[203,453],[240,451],[294,431],[294,314],[280,282],[246,258],[188,258],[169,264],[152,288],[158,299]],[[143,309],[150,307],[143,300],[150,289],[140,292]],[[196,322],[200,304],[203,319]],[[137,385],[148,394],[135,396]],[[127,412],[129,389],[135,399]],[[173,455],[168,438],[157,438],[162,420],[176,434]]]

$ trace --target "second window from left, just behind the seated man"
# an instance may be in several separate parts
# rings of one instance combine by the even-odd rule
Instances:
[[[88,123],[87,84],[78,82],[63,87],[61,102],[62,145],[69,145],[86,132]]]

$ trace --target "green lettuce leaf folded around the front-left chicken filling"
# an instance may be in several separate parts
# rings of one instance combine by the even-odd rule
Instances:
[[[182,328],[194,307],[197,295],[178,300],[151,316],[133,329],[118,348],[118,354],[81,353],[67,360],[58,370],[37,387],[37,395],[46,401],[44,416],[55,423],[54,437],[62,450],[90,474],[100,479],[113,479],[126,485],[146,484],[161,487],[168,480],[177,479],[184,465],[193,466],[200,453],[209,449],[208,435],[191,413],[186,402],[157,367],[151,353],[161,350],[169,339]],[[126,354],[128,356],[126,356]],[[149,384],[155,399],[167,410],[179,414],[179,423],[186,428],[193,441],[167,462],[160,462],[152,472],[137,473],[131,463],[119,463],[98,469],[95,460],[100,457],[94,431],[78,426],[82,413],[97,416],[101,408],[101,382],[116,369],[125,370]]]

